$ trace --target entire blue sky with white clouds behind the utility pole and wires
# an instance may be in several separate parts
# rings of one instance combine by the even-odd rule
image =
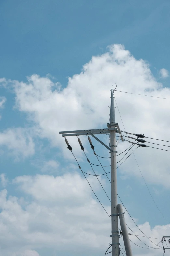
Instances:
[[[170,3],[2,0],[0,9],[0,256],[104,256],[110,218],[59,131],[106,128],[113,83],[119,91],[170,99]],[[154,97],[116,91],[116,122],[122,131],[170,141],[170,101]],[[109,136],[99,137],[108,145]],[[87,137],[81,140],[98,164]],[[92,173],[77,138],[68,141],[82,170]],[[146,141],[170,150],[168,142]],[[120,142],[117,151],[128,147]],[[134,154],[138,165],[132,154],[118,168],[118,194],[152,238],[142,237],[125,210],[141,241],[130,239],[147,248],[131,242],[133,255],[163,255],[159,239],[170,235],[170,152],[146,147]],[[110,215],[98,180],[86,177]],[[99,179],[110,197],[106,178]]]

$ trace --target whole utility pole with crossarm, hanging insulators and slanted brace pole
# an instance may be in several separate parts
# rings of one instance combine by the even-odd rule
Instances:
[[[104,144],[99,138],[97,138],[94,134],[108,134],[110,133],[110,147],[108,147],[106,144]],[[89,129],[89,130],[74,130],[74,131],[60,131],[59,134],[62,134],[62,137],[65,138],[65,142],[67,144],[67,148],[72,151],[72,147],[69,145],[66,137],[68,136],[81,136],[81,135],[91,135],[94,139],[96,139],[98,142],[100,142],[102,145],[104,145],[109,151],[110,151],[110,159],[111,159],[111,237],[112,237],[112,256],[119,256],[119,230],[118,230],[118,216],[120,218],[120,215],[122,216],[124,213],[122,213],[122,206],[119,207],[119,213],[117,209],[117,173],[116,173],[116,133],[119,133],[119,139],[121,138],[122,141],[123,137],[121,135],[121,131],[119,128],[118,123],[115,122],[115,106],[114,106],[114,90],[111,89],[111,105],[110,105],[110,124],[107,123],[107,128],[104,129]],[[80,139],[78,138],[78,141],[80,143],[81,149],[84,150],[84,147],[81,144]],[[89,140],[90,142],[91,140]],[[91,147],[93,146],[90,142]],[[93,147],[94,149],[94,147]],[[79,166],[80,168],[80,166]],[[120,206],[120,205],[118,205]],[[123,216],[124,217],[124,216]],[[122,235],[124,239],[124,245],[126,249],[127,256],[132,256],[131,247],[129,243],[129,237],[127,235],[127,229],[125,226],[125,220],[122,218],[120,220],[121,228],[122,228]]]

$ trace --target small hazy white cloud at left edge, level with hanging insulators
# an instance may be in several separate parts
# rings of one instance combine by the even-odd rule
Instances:
[[[0,132],[0,146],[5,146],[16,158],[34,154],[33,139],[24,128],[9,128]]]

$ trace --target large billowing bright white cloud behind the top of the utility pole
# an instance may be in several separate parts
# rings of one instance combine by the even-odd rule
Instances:
[[[63,150],[63,157],[70,159],[73,159],[72,155],[65,149],[64,139],[58,132],[105,128],[109,120],[110,89],[114,82],[120,91],[170,98],[170,89],[163,88],[162,84],[156,81],[148,63],[142,59],[136,60],[122,45],[111,45],[105,54],[93,56],[92,60],[83,66],[80,74],[69,77],[68,86],[63,90],[58,83],[53,83],[47,77],[32,75],[27,79],[28,83],[9,81],[16,93],[16,107],[27,113],[29,120],[34,121],[36,132],[41,138],[48,138],[52,146]],[[170,126],[168,100],[120,92],[115,92],[115,97],[128,131],[143,133],[153,138],[165,137],[160,132],[168,130]],[[117,108],[116,121],[123,130]],[[81,139],[86,147],[87,138]],[[72,137],[68,140],[76,156],[80,156],[82,152],[77,139]],[[170,141],[169,134],[166,134],[166,140]],[[127,142],[120,143],[118,151],[126,147]],[[135,151],[147,182],[170,187],[168,154],[169,152],[150,148]],[[124,168],[125,165],[122,165],[122,176],[141,177],[133,156],[128,160],[132,161],[132,168]],[[164,177],[167,182],[164,182]]]

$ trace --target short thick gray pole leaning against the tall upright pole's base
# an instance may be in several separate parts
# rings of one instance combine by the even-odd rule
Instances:
[[[122,205],[118,204],[117,209],[118,209],[118,213],[119,213],[119,220],[120,220],[120,226],[121,226],[121,231],[122,231],[122,235],[123,235],[123,241],[124,241],[124,247],[126,250],[126,255],[132,256],[132,250],[131,250],[131,245],[130,245],[130,241],[129,241],[128,231],[126,228],[126,222],[125,222],[125,218],[124,218]]]

